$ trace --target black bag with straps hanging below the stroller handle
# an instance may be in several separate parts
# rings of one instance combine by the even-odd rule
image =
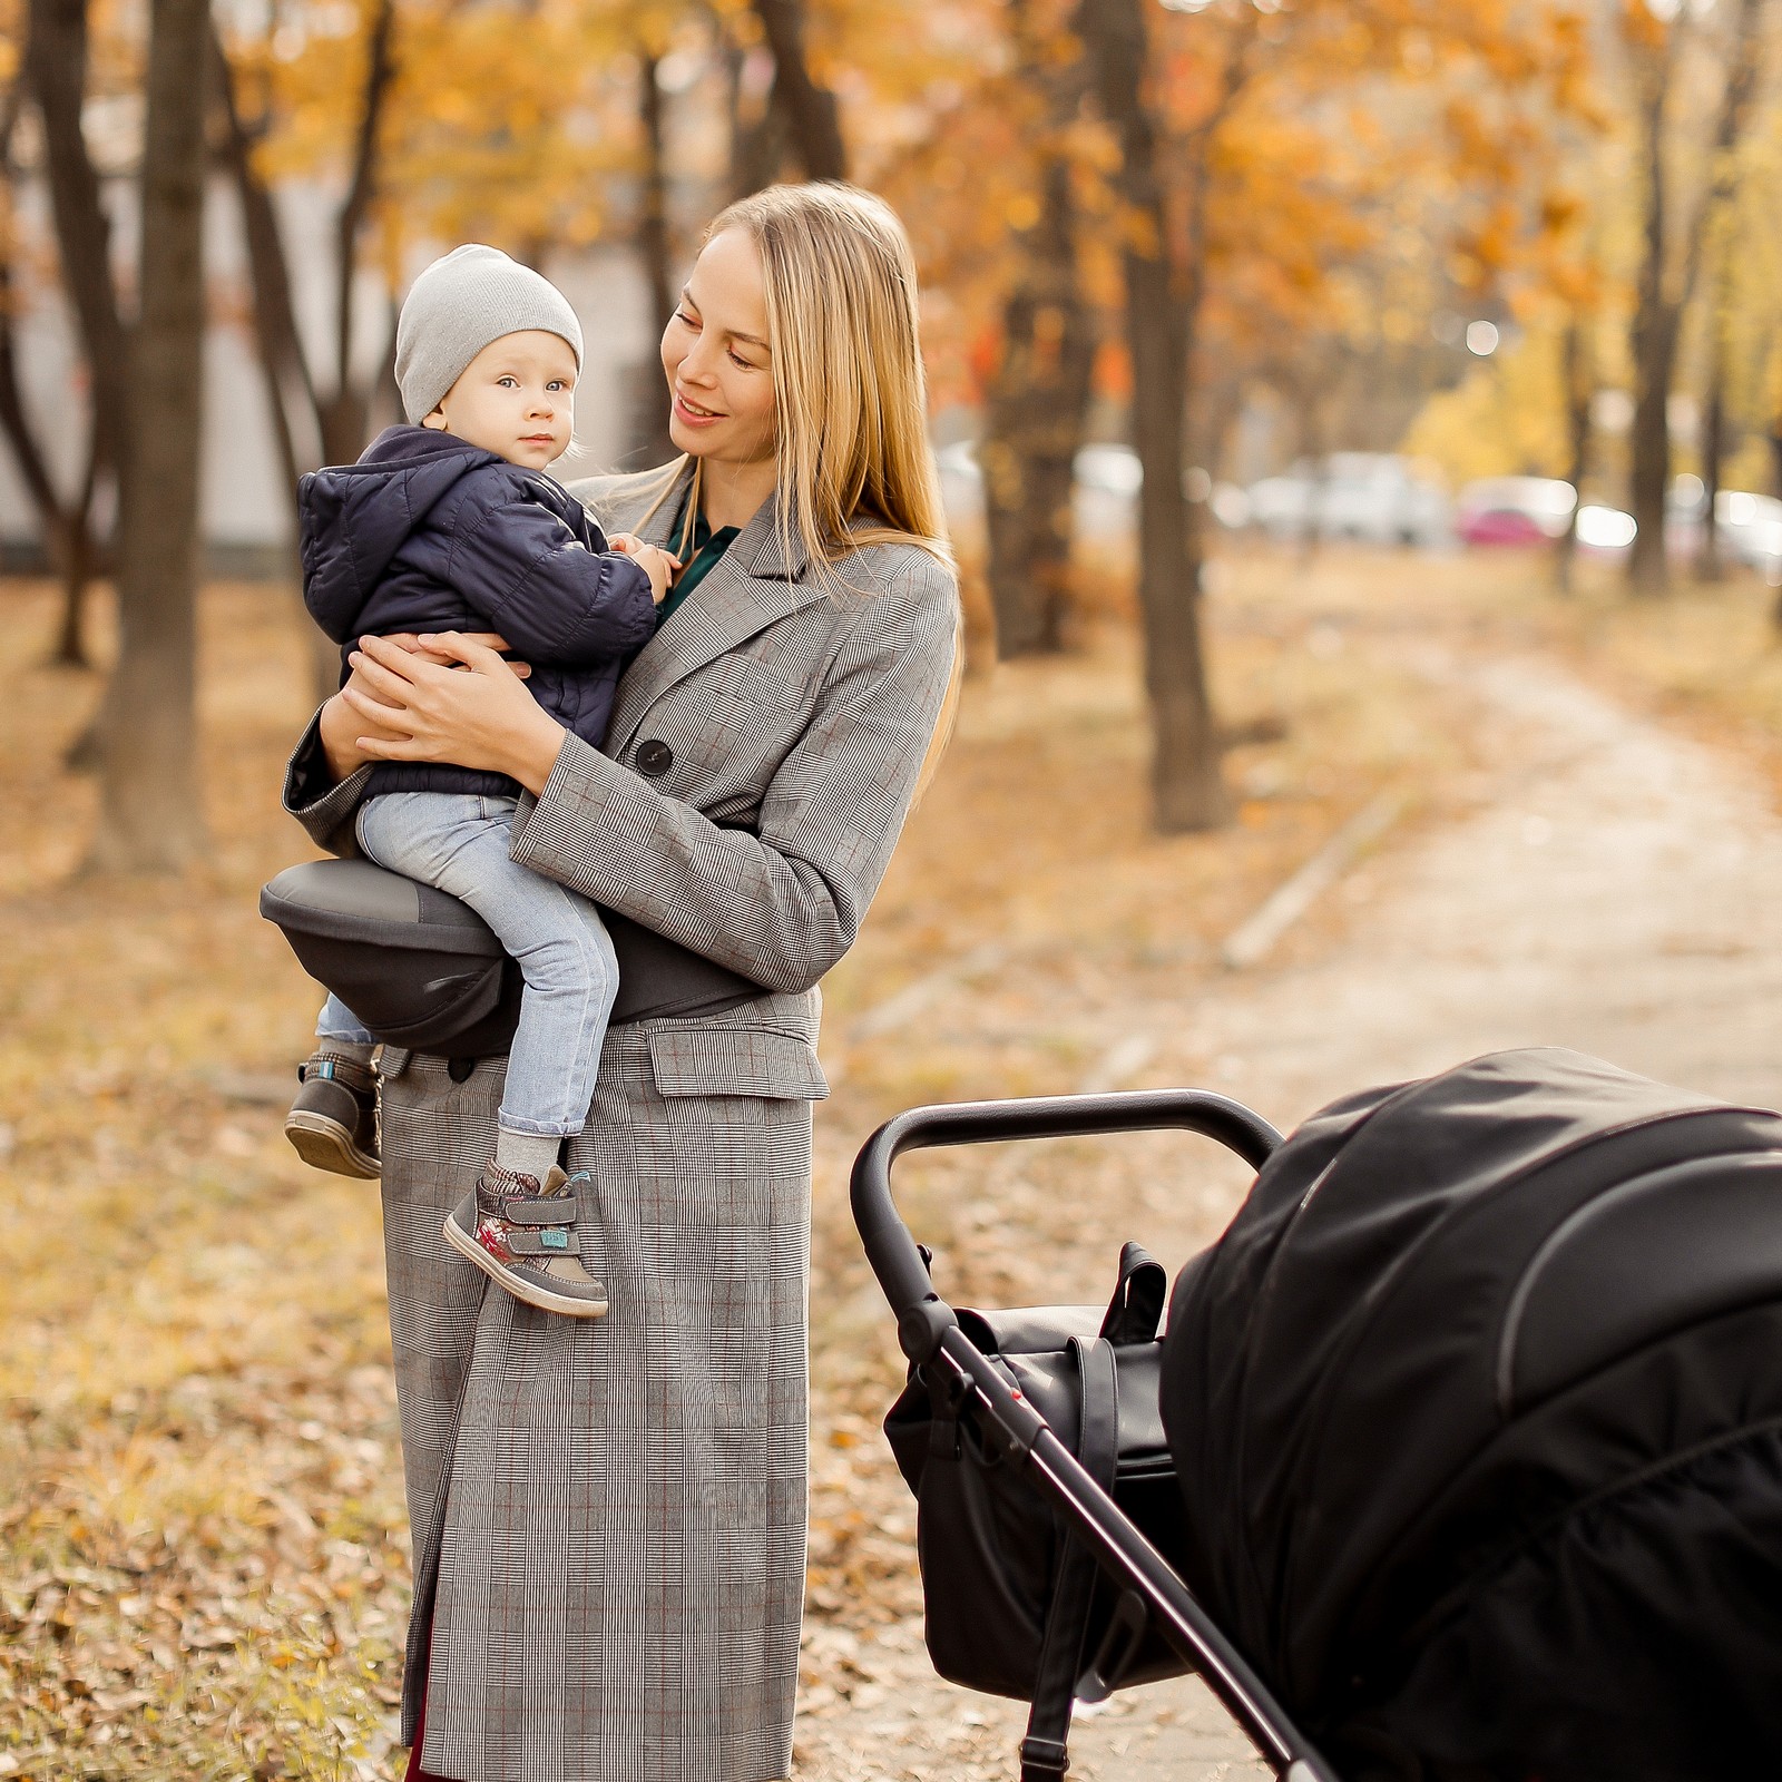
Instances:
[[[1158,1410],[1167,1276],[1139,1244],[1098,1306],[959,1310],[959,1328],[1173,1565],[1181,1495]],[[1119,1591],[1012,1459],[993,1426],[925,1369],[911,1369],[886,1438],[916,1495],[928,1655],[968,1689],[1034,1704],[1023,1762],[1064,1755],[1073,1696],[1180,1675],[1181,1659],[1130,1627]]]

